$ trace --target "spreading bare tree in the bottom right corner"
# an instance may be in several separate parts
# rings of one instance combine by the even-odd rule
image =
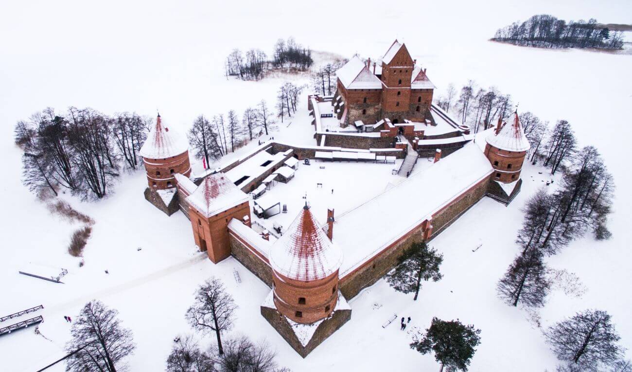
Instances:
[[[610,314],[586,310],[550,326],[544,337],[557,359],[595,371],[612,366],[623,356],[620,337],[614,330]]]

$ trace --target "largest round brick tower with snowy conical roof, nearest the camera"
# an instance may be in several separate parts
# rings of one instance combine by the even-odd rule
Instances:
[[[279,313],[307,324],[334,311],[343,252],[329,240],[307,204],[272,245],[269,258]]]

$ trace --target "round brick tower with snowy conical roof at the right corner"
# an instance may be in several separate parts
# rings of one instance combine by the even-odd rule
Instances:
[[[485,156],[494,167],[493,179],[502,183],[518,181],[526,152],[531,147],[518,118],[518,112],[514,113],[511,124],[502,123],[499,119],[494,132],[485,140]]]

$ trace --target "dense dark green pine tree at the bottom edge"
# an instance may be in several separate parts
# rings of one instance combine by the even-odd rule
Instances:
[[[474,356],[475,347],[480,344],[480,330],[473,325],[463,325],[459,319],[444,321],[432,318],[430,328],[421,340],[410,344],[422,354],[434,352],[435,359],[449,371],[467,371],[470,359]]]

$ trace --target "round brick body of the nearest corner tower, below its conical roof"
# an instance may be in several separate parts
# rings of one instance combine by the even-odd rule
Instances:
[[[312,282],[300,282],[273,271],[274,304],[279,312],[296,323],[313,323],[334,311],[338,299],[338,272]],[[299,299],[305,298],[305,304]],[[326,307],[329,308],[326,309]],[[296,316],[296,311],[302,313]]]

